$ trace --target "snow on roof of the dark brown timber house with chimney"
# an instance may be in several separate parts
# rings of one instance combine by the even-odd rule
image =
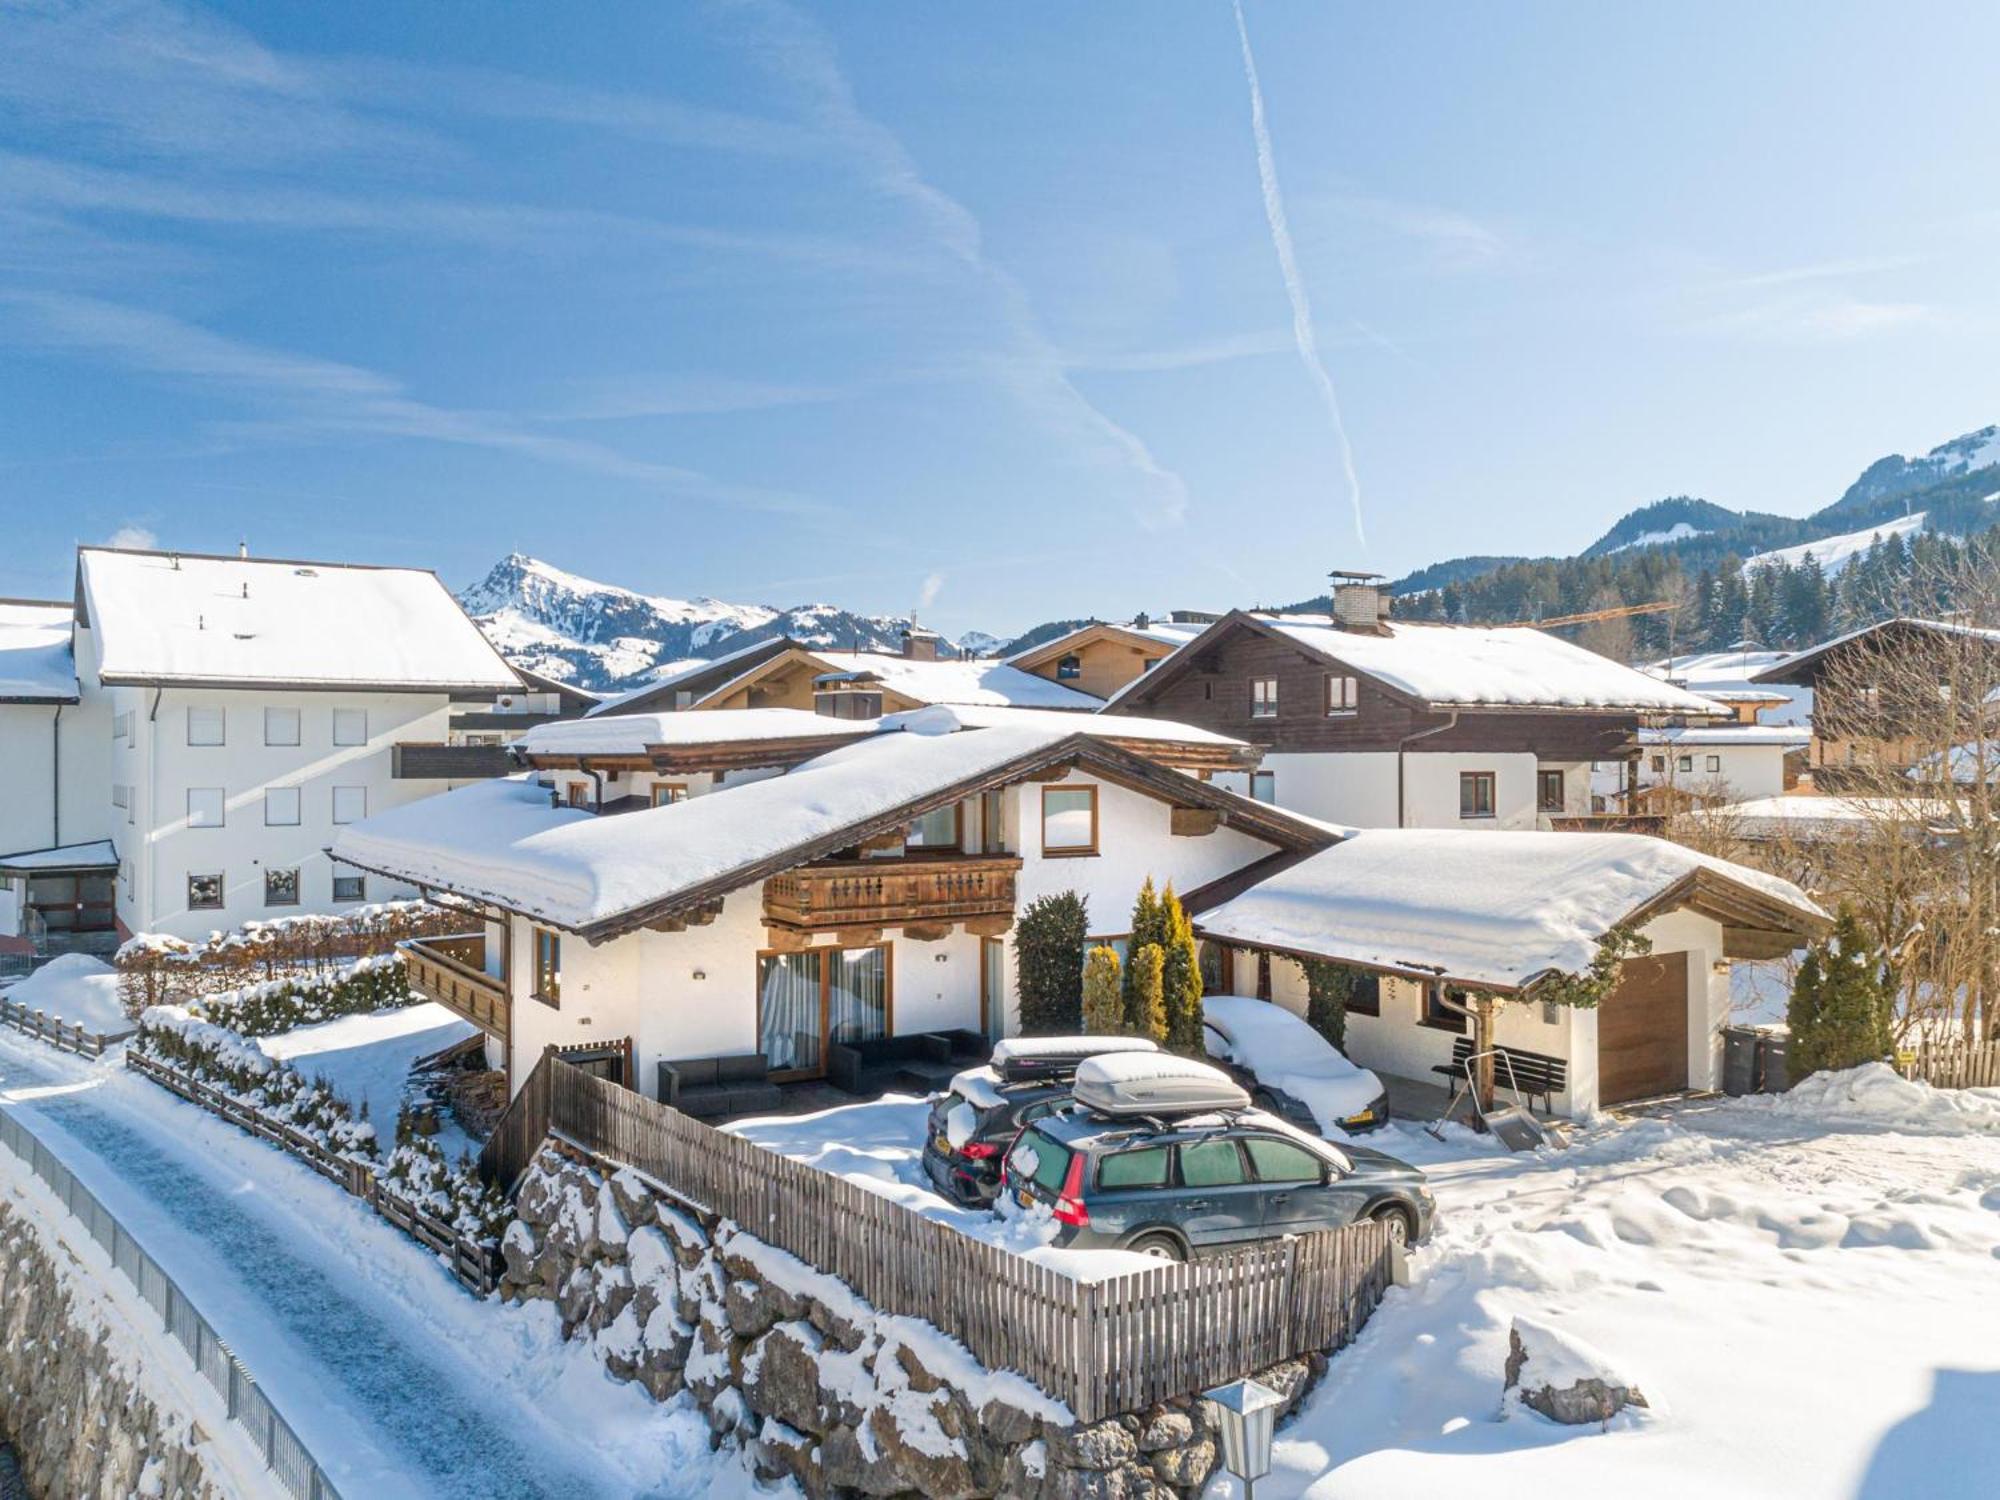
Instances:
[[[1318,620],[1324,620],[1320,616]],[[1544,630],[1384,620],[1388,634],[1276,616],[1268,624],[1428,704],[1464,708],[1602,708],[1718,714],[1686,688],[1650,678]]]

